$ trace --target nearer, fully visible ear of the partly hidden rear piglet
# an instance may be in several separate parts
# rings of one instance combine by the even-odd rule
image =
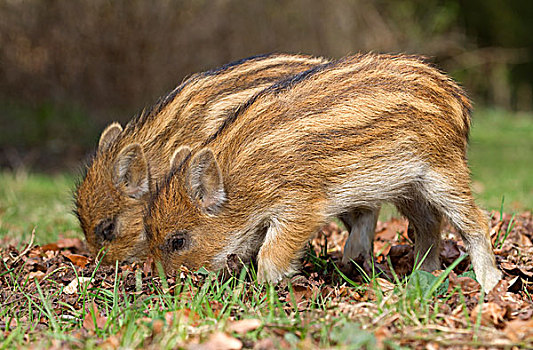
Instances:
[[[150,191],[148,162],[141,145],[134,143],[124,147],[113,168],[115,186],[131,198],[139,199]]]

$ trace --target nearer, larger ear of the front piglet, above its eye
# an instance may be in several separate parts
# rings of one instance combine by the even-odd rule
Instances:
[[[226,193],[213,151],[204,148],[195,154],[189,163],[185,179],[191,199],[208,214],[216,214],[226,200]]]

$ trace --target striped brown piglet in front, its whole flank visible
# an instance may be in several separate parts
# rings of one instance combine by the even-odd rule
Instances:
[[[423,60],[348,57],[266,89],[227,120],[150,201],[146,233],[167,271],[257,255],[259,280],[277,282],[328,219],[375,217],[391,202],[413,224],[419,256],[429,250],[423,268],[440,266],[447,218],[483,287],[500,279],[469,187],[470,102]]]

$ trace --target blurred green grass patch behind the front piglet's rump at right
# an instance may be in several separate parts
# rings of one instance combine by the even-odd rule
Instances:
[[[468,153],[479,202],[497,210],[533,209],[533,115],[474,113]]]

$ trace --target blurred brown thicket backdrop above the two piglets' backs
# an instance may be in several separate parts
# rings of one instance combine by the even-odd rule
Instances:
[[[28,118],[45,130],[56,127],[39,121],[42,106],[78,106],[93,125],[78,132],[94,133],[110,119],[127,121],[187,75],[234,59],[275,51],[331,58],[377,51],[430,56],[485,102],[530,108],[531,79],[518,82],[520,91],[511,86],[515,65],[531,63],[530,49],[520,42],[491,47],[490,35],[478,42],[485,22],[472,21],[465,8],[486,16],[478,10],[497,5],[466,3],[0,0],[0,99],[10,101],[4,107],[35,110],[34,119]],[[0,123],[13,115],[0,112]],[[59,113],[47,123],[76,129],[76,118]],[[40,132],[35,142],[48,145],[56,136]],[[1,157],[2,152],[0,164]]]

